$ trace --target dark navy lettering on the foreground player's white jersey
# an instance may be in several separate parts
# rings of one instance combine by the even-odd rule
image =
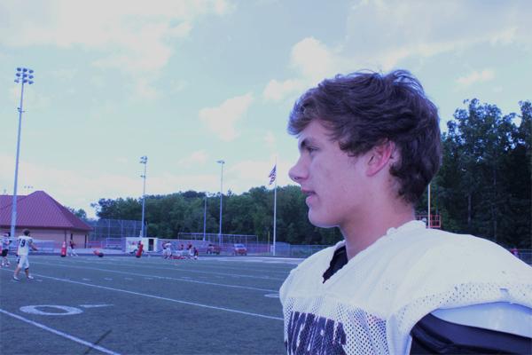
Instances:
[[[343,324],[312,313],[292,312],[286,330],[286,352],[302,354],[346,354]]]

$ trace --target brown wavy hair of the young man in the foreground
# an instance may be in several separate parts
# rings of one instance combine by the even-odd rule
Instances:
[[[390,169],[399,183],[397,193],[414,204],[440,168],[442,160],[438,109],[410,72],[386,75],[356,72],[325,79],[298,99],[288,132],[298,136],[318,120],[332,140],[352,156],[364,154],[387,140],[401,159]]]

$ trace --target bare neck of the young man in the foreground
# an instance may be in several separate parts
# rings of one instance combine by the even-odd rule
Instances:
[[[373,209],[371,214],[360,214],[349,221],[349,224],[341,225],[340,232],[346,241],[348,259],[379,240],[388,229],[397,228],[414,219],[411,206],[403,206],[400,209],[388,206],[381,210]]]

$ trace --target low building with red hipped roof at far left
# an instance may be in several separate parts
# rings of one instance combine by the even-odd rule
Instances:
[[[1,231],[9,232],[11,229],[12,199],[12,195],[0,195]],[[86,247],[92,231],[90,225],[43,191],[17,196],[15,236],[24,229],[29,229],[36,240],[74,241],[79,248]]]

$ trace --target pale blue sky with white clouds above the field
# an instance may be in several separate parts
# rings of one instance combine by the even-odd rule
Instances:
[[[3,0],[0,193],[91,203],[291,183],[293,102],[360,69],[416,75],[441,127],[465,99],[532,99],[532,2]],[[271,186],[269,186],[271,187]]]

